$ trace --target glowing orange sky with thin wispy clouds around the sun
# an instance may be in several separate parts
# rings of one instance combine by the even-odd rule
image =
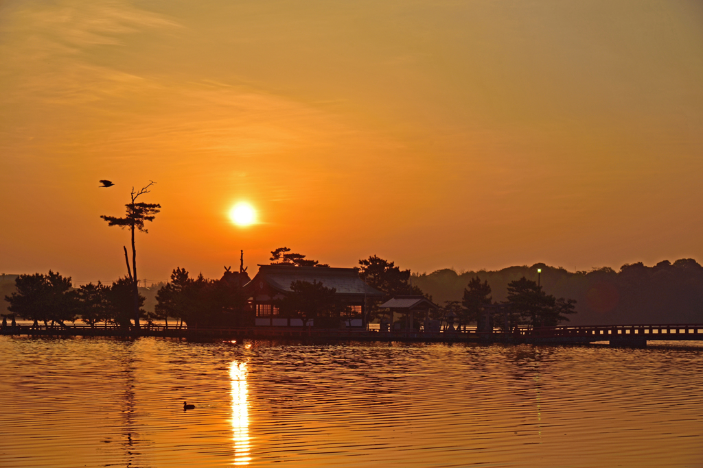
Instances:
[[[150,282],[703,260],[697,0],[4,0],[0,64],[0,272],[124,275],[150,180]]]

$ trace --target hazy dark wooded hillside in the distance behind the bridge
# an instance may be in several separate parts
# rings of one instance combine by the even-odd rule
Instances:
[[[638,262],[623,265],[619,272],[608,267],[567,272],[544,264],[462,274],[441,269],[413,275],[413,285],[442,305],[446,300],[461,300],[469,280],[479,276],[488,280],[494,301],[501,302],[510,281],[522,276],[537,281],[538,268],[546,293],[578,301],[579,313],[569,324],[703,323],[703,267],[690,258],[673,264],[664,260],[654,267]]]

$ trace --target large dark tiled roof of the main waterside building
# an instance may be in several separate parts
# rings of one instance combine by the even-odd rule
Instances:
[[[355,268],[292,267],[288,265],[259,265],[259,272],[245,287],[256,288],[260,281],[269,283],[274,289],[290,293],[293,281],[316,281],[325,288],[335,288],[338,294],[382,296],[384,293],[368,286],[359,278]]]

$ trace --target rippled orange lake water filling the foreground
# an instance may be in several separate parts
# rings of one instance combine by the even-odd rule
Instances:
[[[0,337],[0,361],[0,467],[703,467],[701,343]]]

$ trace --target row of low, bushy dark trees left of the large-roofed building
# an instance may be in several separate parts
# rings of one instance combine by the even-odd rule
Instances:
[[[66,327],[77,320],[91,328],[117,326],[136,328],[134,323],[134,281],[120,278],[110,285],[88,283],[72,288],[71,278],[49,270],[49,274],[20,274],[15,279],[16,291],[5,297],[9,302],[4,316],[44,323],[46,327]],[[226,281],[195,278],[185,269],[176,268],[171,281],[157,293],[153,312],[143,309],[144,296],[138,295],[138,314],[150,326],[157,320],[175,320],[172,327],[183,323],[191,326],[245,326],[242,312],[247,303],[243,290]]]

